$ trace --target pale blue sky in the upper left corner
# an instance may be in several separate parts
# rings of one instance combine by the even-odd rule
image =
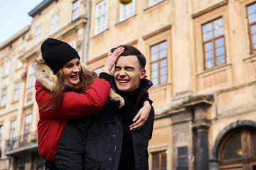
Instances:
[[[28,13],[43,0],[0,0],[0,45],[31,25]]]

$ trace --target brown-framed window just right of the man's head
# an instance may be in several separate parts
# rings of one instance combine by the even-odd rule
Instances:
[[[151,81],[155,85],[167,82],[167,45],[166,41],[150,47]]]

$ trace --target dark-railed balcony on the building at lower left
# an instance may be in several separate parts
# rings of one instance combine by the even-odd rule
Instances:
[[[4,152],[6,156],[16,156],[22,154],[22,152],[38,152],[37,132],[31,132],[6,140]]]

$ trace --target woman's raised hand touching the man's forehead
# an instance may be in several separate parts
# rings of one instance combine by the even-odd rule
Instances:
[[[117,62],[118,57],[124,52],[124,47],[118,47],[110,57],[108,57],[107,62],[105,66],[102,69],[102,72],[106,72],[107,74],[110,74],[111,69],[114,67],[114,63]]]

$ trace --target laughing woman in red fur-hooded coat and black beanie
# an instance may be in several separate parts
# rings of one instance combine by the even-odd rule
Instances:
[[[120,47],[110,57],[102,69],[105,73],[96,78],[94,72],[80,63],[78,52],[68,43],[48,38],[41,45],[42,57],[33,67],[39,108],[38,152],[46,159],[46,169],[55,169],[53,155],[70,118],[97,113],[104,106],[110,94],[105,75],[123,50]],[[115,95],[113,100],[118,101],[119,96]]]

